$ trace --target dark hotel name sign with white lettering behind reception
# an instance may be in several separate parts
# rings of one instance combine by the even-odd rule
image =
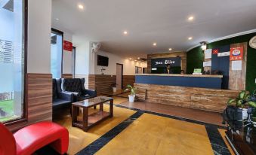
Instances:
[[[170,64],[171,66],[180,66],[180,60],[180,57],[151,59],[151,67],[166,67],[166,65],[168,64]]]

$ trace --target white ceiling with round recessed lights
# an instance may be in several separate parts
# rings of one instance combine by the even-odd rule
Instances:
[[[187,50],[256,28],[256,0],[53,0],[52,24],[74,44],[100,41],[124,56]],[[84,11],[77,5],[83,4]],[[194,16],[193,22],[187,20]],[[56,20],[58,18],[59,20]],[[128,35],[124,36],[123,31]],[[193,37],[188,41],[188,37]],[[153,47],[153,42],[157,47]]]

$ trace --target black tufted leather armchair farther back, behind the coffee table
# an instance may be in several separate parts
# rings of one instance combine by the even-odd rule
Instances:
[[[64,93],[72,93],[74,95],[73,102],[91,99],[97,96],[95,90],[85,89],[85,78],[62,78],[61,90]]]

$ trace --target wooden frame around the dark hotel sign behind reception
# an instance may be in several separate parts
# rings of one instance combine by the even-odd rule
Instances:
[[[187,52],[173,52],[173,53],[153,53],[147,55],[147,73],[151,73],[151,59],[155,58],[168,58],[168,57],[181,57],[181,69],[185,72],[187,70]]]

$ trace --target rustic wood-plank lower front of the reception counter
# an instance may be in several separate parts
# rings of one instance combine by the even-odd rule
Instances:
[[[227,100],[236,98],[239,94],[239,91],[236,90],[214,90],[154,84],[134,84],[134,87],[139,90],[145,90],[138,91],[137,97],[140,99],[140,96],[145,96],[143,93],[146,92],[146,102],[215,112],[223,112],[227,106]]]

